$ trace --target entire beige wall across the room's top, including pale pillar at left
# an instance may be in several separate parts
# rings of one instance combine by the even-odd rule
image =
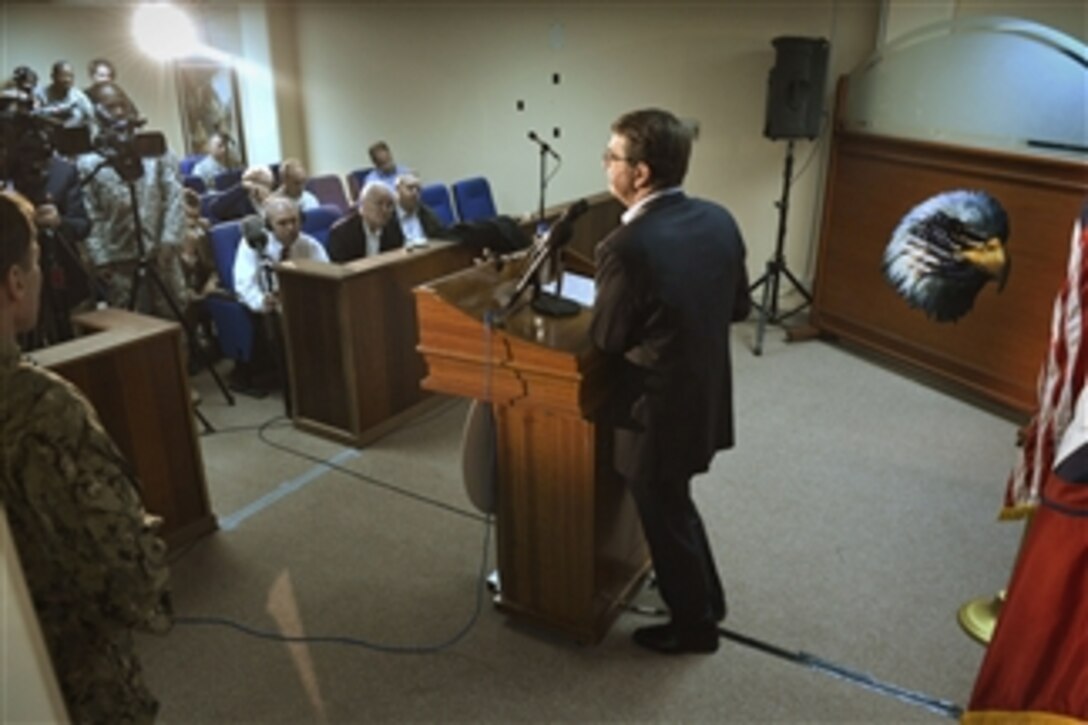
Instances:
[[[297,155],[314,173],[343,174],[369,165],[366,147],[385,138],[428,180],[486,175],[499,210],[522,213],[537,204],[529,130],[564,157],[547,193],[549,204],[559,202],[603,188],[599,152],[617,114],[659,105],[698,121],[688,186],[735,212],[753,274],[774,247],[786,147],[762,135],[771,38],[829,38],[830,97],[834,78],[873,51],[889,13],[898,13],[895,27],[908,29],[919,12],[944,15],[950,7],[954,15],[1017,15],[1086,35],[1079,0],[275,3],[260,23],[254,4],[199,5],[217,48],[245,56],[261,34],[271,47],[247,60],[271,64],[274,83],[247,84],[242,75],[252,161]],[[47,75],[65,57],[82,74],[88,59],[108,56],[149,127],[176,149],[173,75],[133,49],[129,8],[4,3],[4,66],[29,63]],[[556,72],[559,85],[552,84]],[[523,112],[515,110],[519,99]],[[553,127],[560,138],[552,138]],[[814,256],[826,140],[825,132],[796,145],[787,253],[802,273]]]

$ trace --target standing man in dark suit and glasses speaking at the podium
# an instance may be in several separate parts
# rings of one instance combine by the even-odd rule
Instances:
[[[621,366],[608,409],[671,619],[634,641],[714,652],[726,599],[691,478],[733,444],[729,325],[750,312],[744,242],[722,207],[684,195],[691,136],[667,111],[611,127],[604,163],[622,224],[597,247],[591,335]]]

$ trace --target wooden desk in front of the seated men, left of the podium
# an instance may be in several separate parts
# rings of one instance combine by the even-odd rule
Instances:
[[[295,426],[361,446],[432,402],[420,388],[418,284],[472,263],[449,242],[345,265],[281,265],[284,342]]]

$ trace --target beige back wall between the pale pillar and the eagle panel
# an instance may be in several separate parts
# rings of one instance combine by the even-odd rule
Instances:
[[[499,210],[522,213],[537,205],[530,130],[562,155],[547,199],[565,201],[604,188],[601,151],[619,113],[663,106],[698,121],[688,186],[733,209],[758,273],[786,150],[763,137],[770,39],[830,38],[833,77],[871,51],[877,15],[875,0],[307,8],[298,33],[311,167],[369,165],[367,146],[384,138],[425,179],[485,174]],[[816,152],[791,198],[801,269],[825,147],[798,144],[798,171]]]

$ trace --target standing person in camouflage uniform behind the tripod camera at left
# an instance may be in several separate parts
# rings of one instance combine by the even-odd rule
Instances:
[[[95,86],[100,133],[96,150],[79,157],[76,165],[84,179],[84,202],[91,221],[87,253],[104,283],[107,303],[127,307],[140,254],[154,265],[180,308],[188,296],[178,261],[185,239],[186,218],[177,161],[173,155],[144,156],[135,134],[141,121],[128,96],[114,83]],[[139,238],[135,226],[133,184],[139,212]],[[144,249],[139,248],[143,241]],[[151,292],[153,288],[153,293]],[[143,281],[137,309],[173,319],[159,290]]]

